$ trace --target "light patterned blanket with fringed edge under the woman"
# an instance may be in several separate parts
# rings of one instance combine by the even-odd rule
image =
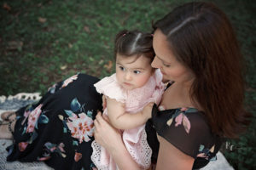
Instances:
[[[40,99],[38,93],[34,94],[16,94],[15,96],[0,96],[0,115],[4,111],[16,111],[24,105],[31,104]],[[20,162],[13,161],[7,162],[6,156],[8,155],[5,148],[12,144],[12,140],[0,139],[0,170],[52,170],[51,167],[48,167],[42,161],[34,162]],[[207,167],[202,168],[201,170],[234,170],[230,166],[229,162],[225,159],[224,155],[221,152],[217,154],[217,161],[211,161]]]

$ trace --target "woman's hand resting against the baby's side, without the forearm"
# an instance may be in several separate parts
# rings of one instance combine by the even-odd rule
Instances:
[[[108,116],[102,116],[98,112],[94,121],[94,137],[98,144],[101,144],[107,150],[113,150],[120,143],[123,144],[119,130],[109,124]]]

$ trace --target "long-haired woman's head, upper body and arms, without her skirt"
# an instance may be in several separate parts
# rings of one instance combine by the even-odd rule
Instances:
[[[214,159],[222,139],[238,137],[248,124],[235,33],[212,3],[186,3],[153,27],[152,66],[170,81],[147,126],[153,122],[160,143],[159,150],[152,145],[158,150],[153,155],[158,155],[156,169],[204,167]],[[119,169],[139,169],[132,159],[120,156],[126,157],[127,150],[100,113],[95,127],[96,142],[108,150]]]

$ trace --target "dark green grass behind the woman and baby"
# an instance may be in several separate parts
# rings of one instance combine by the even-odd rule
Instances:
[[[186,0],[23,0],[5,1],[0,8],[0,95],[44,94],[55,82],[77,72],[96,77],[113,73],[113,39],[122,29],[151,31],[158,20]],[[212,1],[235,27],[247,73],[247,107],[253,123],[236,150],[223,147],[236,169],[253,169],[255,161],[255,3],[253,0]],[[236,82],[230,82],[236,83]]]

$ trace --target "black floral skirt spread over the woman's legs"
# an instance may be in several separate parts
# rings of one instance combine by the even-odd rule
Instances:
[[[16,111],[14,144],[7,161],[45,161],[55,169],[95,169],[93,120],[102,111],[96,77],[77,74],[56,83],[38,103]]]

